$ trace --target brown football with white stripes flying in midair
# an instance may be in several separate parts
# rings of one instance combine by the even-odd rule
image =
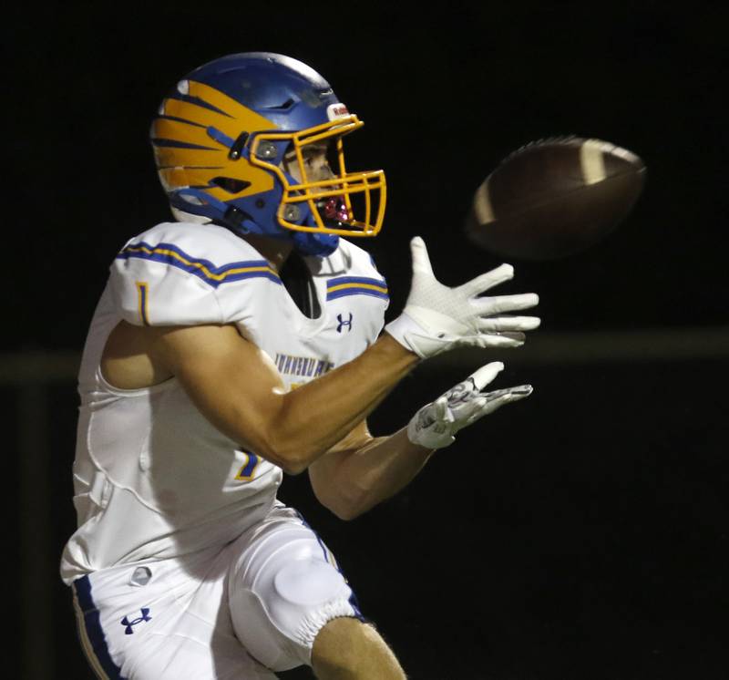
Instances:
[[[615,229],[644,183],[643,161],[610,142],[541,139],[509,154],[478,187],[466,232],[501,256],[565,257]]]

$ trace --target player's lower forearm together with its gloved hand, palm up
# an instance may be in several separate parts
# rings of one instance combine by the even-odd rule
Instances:
[[[529,385],[483,391],[503,367],[500,362],[482,366],[420,408],[406,428],[389,437],[372,438],[361,423],[309,468],[317,499],[341,519],[352,520],[394,496],[416,477],[436,448],[455,441],[459,430],[529,397]]]

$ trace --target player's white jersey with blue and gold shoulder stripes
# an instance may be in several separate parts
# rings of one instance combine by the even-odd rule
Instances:
[[[387,287],[368,253],[340,240],[305,258],[322,309],[305,316],[261,253],[212,224],[165,222],[111,266],[79,374],[74,461],[77,531],[61,576],[224,545],[271,509],[282,470],[214,428],[174,378],[110,386],[100,359],[122,319],[134,325],[233,324],[289,388],[360,355],[382,330]]]

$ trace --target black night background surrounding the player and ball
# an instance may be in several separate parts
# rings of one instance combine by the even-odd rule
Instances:
[[[12,10],[0,394],[17,489],[6,562],[25,583],[5,602],[24,622],[5,636],[15,676],[91,677],[57,578],[74,524],[77,353],[118,248],[168,219],[147,141],[159,101],[193,67],[252,50],[302,59],[364,119],[348,164],[387,173],[385,228],[365,247],[390,283],[388,318],[405,302],[416,233],[444,283],[500,262],[460,224],[512,149],[575,133],[648,167],[641,200],[604,242],[557,262],[512,261],[503,291],[539,293],[542,327],[505,355],[498,386],[530,382],[528,401],[461,433],[354,522],[318,508],[305,476],[284,482],[282,497],[337,554],[408,673],[727,676],[727,15],[718,3],[665,6]],[[679,349],[639,348],[631,333]],[[634,351],[611,355],[616,337]],[[539,354],[560,338],[573,345]],[[593,346],[591,359],[575,358]],[[371,418],[375,434],[482,358],[421,366]],[[29,488],[15,483],[28,460]]]

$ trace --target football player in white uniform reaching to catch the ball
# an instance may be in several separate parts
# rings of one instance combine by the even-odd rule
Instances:
[[[492,295],[508,265],[456,288],[412,241],[402,314],[354,245],[385,214],[382,170],[353,171],[362,122],[281,55],[184,77],[151,129],[174,222],[110,268],[79,374],[77,531],[61,575],[99,677],[402,678],[334,556],[276,499],[308,470],[352,519],[402,489],[461,428],[529,386],[485,392],[491,363],[373,438],[366,418],[420,361],[512,347],[535,294]]]

